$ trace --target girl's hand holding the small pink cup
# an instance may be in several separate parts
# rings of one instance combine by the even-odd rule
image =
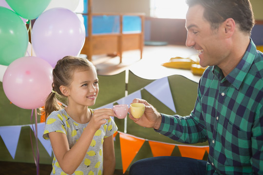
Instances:
[[[103,108],[94,110],[93,116],[89,122],[89,127],[97,131],[102,124],[107,123],[105,119],[110,119],[110,116],[115,116],[113,109]]]

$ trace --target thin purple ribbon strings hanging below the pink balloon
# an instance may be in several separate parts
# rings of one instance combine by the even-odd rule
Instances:
[[[33,148],[33,142],[32,142],[32,136],[31,136],[31,132],[30,132],[30,141],[31,141],[31,148],[32,148],[32,152],[33,152],[33,156],[34,156],[34,161],[37,167],[37,175],[39,175],[39,150],[38,150],[38,118],[37,118],[37,109],[35,109],[35,128],[36,131],[33,127],[33,111],[34,109],[32,109],[32,113],[31,113],[31,124],[32,124],[32,129],[35,135],[35,139],[36,139],[36,147],[37,147],[37,158],[35,156],[35,151]]]

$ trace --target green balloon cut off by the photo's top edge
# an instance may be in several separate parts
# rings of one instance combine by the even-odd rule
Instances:
[[[35,19],[44,12],[51,0],[6,0],[20,17]]]

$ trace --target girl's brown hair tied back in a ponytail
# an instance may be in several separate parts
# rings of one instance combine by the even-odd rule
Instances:
[[[65,99],[59,87],[68,87],[73,81],[73,74],[75,70],[90,70],[94,65],[86,58],[76,56],[65,56],[57,61],[55,68],[53,69],[53,84],[52,92],[46,99],[45,107],[42,112],[47,118],[53,111],[62,109],[63,107],[58,104],[58,99]]]

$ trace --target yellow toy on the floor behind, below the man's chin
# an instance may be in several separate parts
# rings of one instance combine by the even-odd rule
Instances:
[[[198,55],[192,55],[188,58],[180,56],[170,58],[169,62],[163,63],[162,66],[167,68],[191,70],[194,75],[202,75],[206,68],[199,64]]]

